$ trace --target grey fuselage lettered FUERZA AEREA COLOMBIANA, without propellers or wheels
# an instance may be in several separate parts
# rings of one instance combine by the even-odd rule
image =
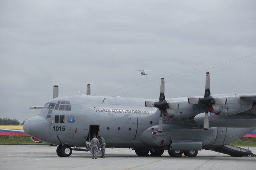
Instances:
[[[241,101],[239,94],[212,96],[228,99],[225,106],[218,108],[221,115],[241,113],[252,107],[250,101]],[[63,101],[70,104],[61,104]],[[145,101],[156,100],[86,95],[59,97],[47,102],[38,116],[28,119],[24,131],[54,145],[84,147],[93,132],[90,128],[95,125],[99,128],[98,135],[104,137],[106,147],[158,148],[172,143],[176,150],[190,144],[193,147],[188,150],[201,150],[228,144],[256,128],[254,119],[254,123],[246,128],[236,128],[234,123],[204,131],[202,125],[194,121],[198,113],[204,112],[204,106],[188,104],[188,97],[166,98],[167,102],[179,103],[179,109],[168,109],[164,116],[166,135],[152,136],[152,132],[158,130],[160,111],[145,107]]]

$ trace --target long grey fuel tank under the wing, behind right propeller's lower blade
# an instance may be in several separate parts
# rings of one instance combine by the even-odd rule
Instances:
[[[204,125],[204,113],[200,113],[194,117],[198,125]],[[235,115],[209,115],[210,127],[255,127],[256,115],[248,113],[238,113]]]

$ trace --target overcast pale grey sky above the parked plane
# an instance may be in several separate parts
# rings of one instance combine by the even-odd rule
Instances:
[[[158,98],[166,77],[166,97],[197,96],[209,71],[212,94],[256,93],[256,57],[171,76],[256,53],[255,9],[255,0],[0,0],[0,117],[37,115],[28,107],[50,100],[53,85],[66,96],[157,79],[100,95]]]

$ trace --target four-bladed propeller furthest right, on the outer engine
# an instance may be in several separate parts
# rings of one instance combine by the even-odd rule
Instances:
[[[210,107],[214,104],[225,105],[227,102],[226,98],[212,98],[210,92],[210,73],[206,72],[206,80],[205,80],[205,92],[204,98],[188,98],[189,104],[203,104],[205,106],[205,115],[204,115],[204,130],[209,129],[209,116],[208,112]]]

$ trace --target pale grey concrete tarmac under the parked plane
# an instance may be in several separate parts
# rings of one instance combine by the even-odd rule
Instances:
[[[256,147],[250,147],[256,153]],[[100,155],[99,155],[100,156]],[[87,169],[256,169],[256,157],[232,157],[210,150],[200,150],[195,158],[172,158],[167,150],[162,156],[139,157],[132,149],[106,148],[106,158],[92,159],[90,152],[73,151],[59,157],[56,147],[48,145],[0,145],[1,170],[87,170]]]

